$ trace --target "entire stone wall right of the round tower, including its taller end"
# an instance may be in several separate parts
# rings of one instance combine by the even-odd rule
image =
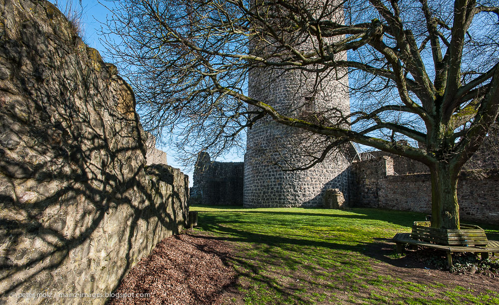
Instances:
[[[397,175],[397,162],[386,153],[352,164],[351,205],[431,214],[429,173]],[[399,166],[398,168],[403,168]],[[412,171],[418,167],[405,167]],[[499,223],[499,175],[497,170],[462,171],[458,181],[458,202],[462,220]]]

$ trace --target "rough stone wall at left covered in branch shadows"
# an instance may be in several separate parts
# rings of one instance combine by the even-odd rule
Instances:
[[[104,304],[185,225],[188,177],[145,169],[132,90],[55,6],[0,15],[0,303]]]

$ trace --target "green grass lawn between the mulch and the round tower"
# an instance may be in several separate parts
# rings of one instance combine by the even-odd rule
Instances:
[[[238,293],[229,303],[499,305],[497,279],[487,289],[473,281],[449,282],[442,279],[451,276],[447,272],[396,266],[404,258],[381,251],[389,238],[410,232],[412,222],[424,220],[424,214],[225,206],[191,210],[200,211],[194,234],[229,241],[234,249],[229,260],[238,274]],[[489,239],[499,240],[498,226],[481,226]]]

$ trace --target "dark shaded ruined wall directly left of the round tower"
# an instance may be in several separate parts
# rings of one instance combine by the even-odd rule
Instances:
[[[191,203],[243,205],[243,162],[217,162],[200,152],[194,168]]]

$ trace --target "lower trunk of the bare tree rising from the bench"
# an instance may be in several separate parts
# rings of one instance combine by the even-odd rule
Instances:
[[[458,173],[448,163],[430,168],[432,178],[432,227],[459,229]]]

